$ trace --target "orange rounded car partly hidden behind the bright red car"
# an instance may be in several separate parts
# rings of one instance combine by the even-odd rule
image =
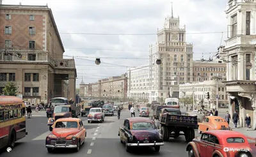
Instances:
[[[231,128],[222,117],[205,116],[205,121],[198,123],[198,133],[208,130],[231,130]]]

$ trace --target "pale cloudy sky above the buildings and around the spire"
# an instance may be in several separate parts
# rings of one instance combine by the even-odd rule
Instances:
[[[82,78],[86,84],[93,83],[148,64],[148,47],[156,44],[157,28],[163,28],[172,12],[171,2],[180,28],[186,25],[194,60],[207,59],[225,45],[227,0],[3,0],[3,4],[51,8],[64,56],[76,60],[77,87]],[[100,65],[95,64],[96,57]]]

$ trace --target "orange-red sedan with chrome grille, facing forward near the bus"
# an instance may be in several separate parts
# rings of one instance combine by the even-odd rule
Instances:
[[[86,130],[79,118],[58,119],[50,131],[52,132],[45,139],[45,147],[49,153],[56,148],[73,148],[79,151],[86,137]]]

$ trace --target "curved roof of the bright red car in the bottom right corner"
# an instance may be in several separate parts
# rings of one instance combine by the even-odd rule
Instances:
[[[216,137],[221,138],[230,138],[230,137],[243,137],[244,140],[246,140],[246,136],[243,135],[243,133],[237,132],[237,131],[231,131],[231,130],[210,130],[205,131],[204,133],[210,133],[212,135],[216,135]]]

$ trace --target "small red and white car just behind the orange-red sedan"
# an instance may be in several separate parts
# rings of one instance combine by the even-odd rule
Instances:
[[[105,115],[103,113],[102,108],[97,107],[97,108],[91,108],[90,112],[87,116],[87,121],[88,123],[90,122],[99,122],[102,123],[105,119]]]

